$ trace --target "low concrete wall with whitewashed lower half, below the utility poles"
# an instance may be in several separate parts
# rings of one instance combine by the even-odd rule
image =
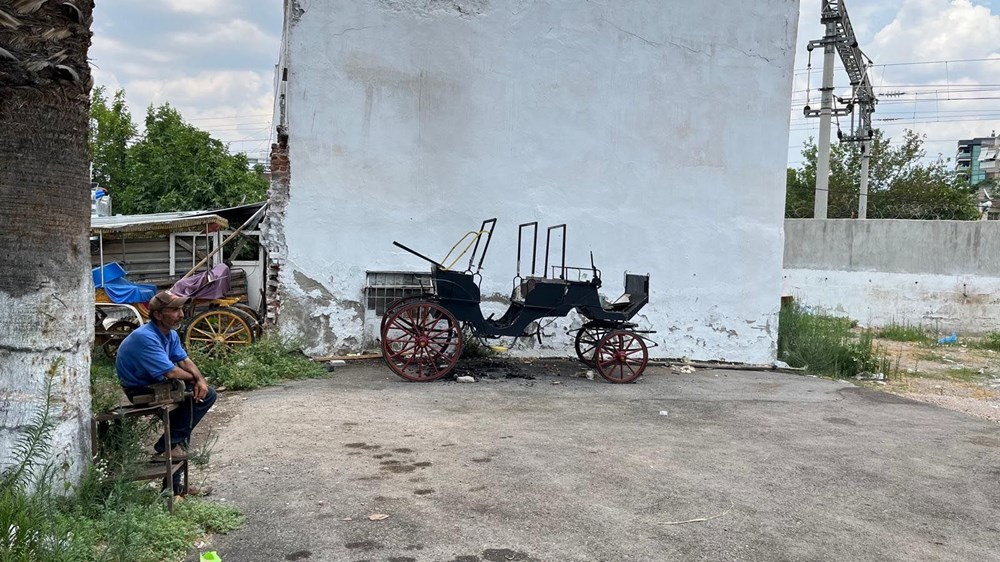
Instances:
[[[789,219],[782,294],[867,326],[1000,329],[1000,222]]]

